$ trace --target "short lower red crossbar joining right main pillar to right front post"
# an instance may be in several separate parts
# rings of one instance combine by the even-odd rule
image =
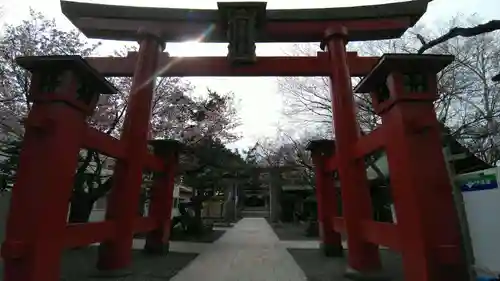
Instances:
[[[363,237],[376,245],[390,248],[391,250],[401,251],[401,241],[397,226],[387,222],[363,221],[361,223]]]

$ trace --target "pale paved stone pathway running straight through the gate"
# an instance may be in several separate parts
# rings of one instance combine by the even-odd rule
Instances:
[[[171,281],[305,281],[263,218],[244,218]]]

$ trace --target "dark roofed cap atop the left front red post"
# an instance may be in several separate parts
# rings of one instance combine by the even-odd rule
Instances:
[[[30,102],[64,102],[91,115],[99,94],[118,91],[80,56],[19,57],[16,62],[32,73]]]

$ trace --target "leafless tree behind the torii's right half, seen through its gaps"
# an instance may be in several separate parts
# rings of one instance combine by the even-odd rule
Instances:
[[[381,55],[383,53],[418,53],[425,37],[433,38],[434,33],[447,34],[448,30],[458,30],[453,34],[463,33],[455,26],[479,26],[482,30],[491,30],[491,25],[477,24],[480,19],[472,17],[464,20],[460,16],[443,24],[438,31],[431,31],[425,26],[411,29],[400,39],[362,42],[349,44],[348,49],[358,51],[360,55]],[[493,24],[496,24],[494,21]],[[451,27],[451,28],[450,28]],[[428,41],[429,49],[435,54],[452,54],[455,62],[438,74],[439,100],[436,102],[438,118],[451,128],[452,135],[464,143],[472,152],[488,163],[495,164],[498,152],[498,105],[499,85],[491,78],[498,72],[499,32],[480,34],[474,37],[451,37],[441,41]],[[435,43],[439,42],[439,43]],[[427,46],[427,45],[426,45]],[[430,48],[430,47],[428,47]],[[315,45],[296,45],[291,54],[312,55],[317,50]],[[279,89],[285,97],[287,107],[284,115],[292,123],[316,124],[324,130],[330,129],[333,118],[329,79],[280,78]],[[356,80],[353,79],[353,84]],[[380,124],[371,107],[368,95],[355,94],[357,115],[362,133],[368,133]]]

